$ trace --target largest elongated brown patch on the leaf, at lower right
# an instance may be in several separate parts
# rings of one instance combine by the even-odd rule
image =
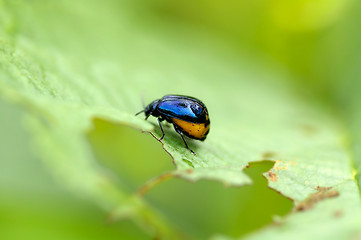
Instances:
[[[316,203],[327,198],[337,197],[339,192],[337,190],[331,190],[332,187],[320,187],[315,188],[317,192],[310,194],[310,196],[302,202],[299,202],[295,206],[295,211],[306,211],[313,208]]]

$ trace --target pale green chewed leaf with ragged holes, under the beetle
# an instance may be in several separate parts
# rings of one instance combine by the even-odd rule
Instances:
[[[104,171],[87,134],[102,119],[159,137],[155,119],[134,116],[142,93],[146,102],[186,94],[207,104],[211,130],[205,142],[188,141],[194,156],[166,129],[163,147],[176,165],[171,175],[243,186],[252,183],[242,171],[250,162],[272,160],[264,174],[269,186],[295,201],[293,213],[246,239],[359,236],[360,189],[340,120],[297,96],[282,69],[246,54],[220,56],[227,50],[211,36],[184,26],[175,31],[140,6],[1,2],[0,93],[24,108],[36,152],[59,183],[150,235],[184,238]]]

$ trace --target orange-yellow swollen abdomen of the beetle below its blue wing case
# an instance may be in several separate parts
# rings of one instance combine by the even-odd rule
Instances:
[[[172,121],[181,128],[182,132],[194,139],[204,140],[209,132],[209,123],[192,123],[178,118],[171,118]]]

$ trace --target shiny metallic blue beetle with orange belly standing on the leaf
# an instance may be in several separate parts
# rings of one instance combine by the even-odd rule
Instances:
[[[201,100],[184,95],[166,95],[161,99],[154,100],[136,116],[144,112],[145,120],[149,116],[158,119],[162,136],[158,139],[161,141],[165,133],[162,127],[162,121],[173,124],[175,131],[182,137],[186,148],[195,155],[188,147],[183,135],[204,141],[209,133],[210,120],[208,110]]]

